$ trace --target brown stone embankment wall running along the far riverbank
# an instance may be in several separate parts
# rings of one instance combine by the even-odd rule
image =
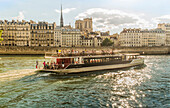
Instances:
[[[44,55],[45,52],[62,51],[113,51],[122,53],[140,53],[142,55],[166,55],[170,54],[170,47],[98,47],[98,48],[57,48],[57,47],[0,47],[0,55]]]

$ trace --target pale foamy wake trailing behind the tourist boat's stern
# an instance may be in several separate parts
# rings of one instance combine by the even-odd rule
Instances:
[[[5,73],[0,73],[0,81],[12,81],[22,77],[36,74],[35,69],[10,70]]]

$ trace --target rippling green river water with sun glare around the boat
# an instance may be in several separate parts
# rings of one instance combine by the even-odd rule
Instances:
[[[89,74],[35,73],[42,56],[0,56],[0,108],[170,108],[170,56]]]

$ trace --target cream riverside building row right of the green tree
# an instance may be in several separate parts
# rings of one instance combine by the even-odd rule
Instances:
[[[168,46],[166,43],[166,33],[157,29],[123,29],[119,36],[120,46],[123,47],[152,47]]]

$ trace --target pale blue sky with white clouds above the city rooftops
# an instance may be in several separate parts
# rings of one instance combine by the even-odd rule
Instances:
[[[170,22],[170,0],[0,0],[0,20],[46,21],[75,26],[93,18],[94,31],[120,33],[123,28],[154,29]]]

